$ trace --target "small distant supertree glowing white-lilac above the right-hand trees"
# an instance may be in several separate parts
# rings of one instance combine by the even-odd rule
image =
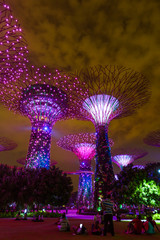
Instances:
[[[147,152],[140,149],[117,149],[113,151],[112,161],[116,163],[121,170],[133,161],[147,155]]]

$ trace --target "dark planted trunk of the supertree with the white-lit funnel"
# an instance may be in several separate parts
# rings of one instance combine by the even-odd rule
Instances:
[[[99,210],[101,199],[112,190],[114,181],[107,126],[96,127],[96,151],[94,208]]]

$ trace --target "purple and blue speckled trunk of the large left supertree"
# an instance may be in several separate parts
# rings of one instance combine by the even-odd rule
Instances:
[[[51,124],[43,122],[33,123],[26,159],[26,168],[49,168],[51,132]]]

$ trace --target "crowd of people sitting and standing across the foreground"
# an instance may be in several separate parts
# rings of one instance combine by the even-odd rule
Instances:
[[[111,200],[111,194],[107,194],[106,199],[101,201],[102,212],[103,215],[97,213],[94,216],[93,224],[91,225],[91,232],[93,235],[101,235],[106,236],[107,233],[110,233],[112,236],[115,235],[114,224],[113,224],[113,202]],[[16,215],[15,220],[27,220],[27,213],[24,213],[23,218],[20,216],[20,212]],[[118,219],[117,219],[118,220]],[[32,221],[34,222],[42,222],[43,215],[33,216]],[[73,235],[82,235],[88,234],[88,229],[85,227],[83,223],[78,226],[70,226],[68,218],[65,213],[55,222],[58,226],[60,232],[72,231]],[[102,227],[103,226],[103,227]],[[152,219],[151,216],[147,217],[146,221],[141,220],[141,215],[137,215],[135,219],[129,222],[127,229],[125,231],[126,234],[154,234],[155,231],[159,231],[159,228],[156,222]]]

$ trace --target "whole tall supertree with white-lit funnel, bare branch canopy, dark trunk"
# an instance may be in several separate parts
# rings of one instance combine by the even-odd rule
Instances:
[[[112,119],[129,116],[146,103],[150,83],[140,73],[110,65],[84,69],[79,80],[85,81],[88,96],[77,96],[74,111],[77,119],[90,120],[96,128],[94,205],[100,208],[101,199],[111,191],[114,181],[108,125]],[[76,102],[79,98],[83,101],[81,105]]]

